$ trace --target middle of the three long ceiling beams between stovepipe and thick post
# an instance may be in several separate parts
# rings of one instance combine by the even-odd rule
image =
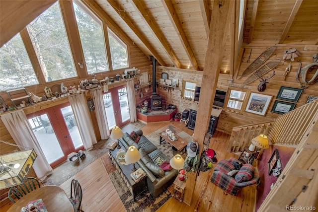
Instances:
[[[162,34],[159,27],[155,24],[155,20],[151,17],[148,11],[145,10],[141,0],[133,0],[132,5],[136,9],[136,11],[140,14],[140,16],[144,19],[146,25],[148,26],[149,30],[153,33],[153,36],[157,38],[157,41],[163,46],[166,54],[169,56],[173,65],[177,68],[181,68],[180,61],[177,59],[173,49],[167,43],[165,36]]]

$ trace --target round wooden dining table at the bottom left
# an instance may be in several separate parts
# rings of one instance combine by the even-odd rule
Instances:
[[[31,191],[17,200],[7,212],[20,212],[31,201],[38,199],[42,199],[48,212],[74,212],[68,196],[59,186],[44,186]]]

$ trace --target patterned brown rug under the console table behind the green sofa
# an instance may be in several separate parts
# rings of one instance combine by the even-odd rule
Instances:
[[[136,201],[134,201],[132,194],[127,186],[125,186],[125,182],[116,168],[112,165],[109,156],[103,156],[100,160],[128,212],[156,212],[171,197],[169,191],[171,191],[172,186],[157,198],[154,198],[150,192],[147,191],[137,196]]]

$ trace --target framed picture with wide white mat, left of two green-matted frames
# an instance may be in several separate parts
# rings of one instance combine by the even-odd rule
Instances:
[[[272,96],[260,93],[251,93],[245,111],[265,116]]]

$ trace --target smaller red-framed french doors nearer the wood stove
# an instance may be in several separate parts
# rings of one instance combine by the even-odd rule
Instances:
[[[109,89],[103,94],[108,127],[122,127],[130,122],[126,86]]]

